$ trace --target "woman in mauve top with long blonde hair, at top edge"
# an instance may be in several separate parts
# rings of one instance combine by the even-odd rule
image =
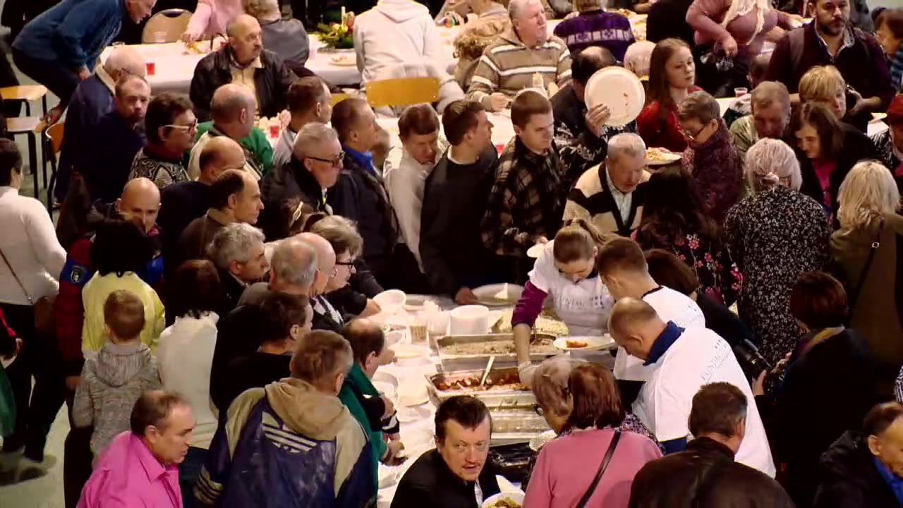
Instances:
[[[790,20],[771,8],[771,0],[694,0],[686,12],[697,45],[716,44],[728,57],[743,61],[759,54],[775,26],[792,28]]]

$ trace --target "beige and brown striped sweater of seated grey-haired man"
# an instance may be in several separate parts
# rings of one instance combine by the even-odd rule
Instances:
[[[513,29],[498,36],[483,51],[477,70],[470,80],[468,98],[489,108],[489,95],[500,92],[514,97],[533,86],[534,74],[543,77],[544,88],[555,82],[563,87],[571,80],[571,53],[558,37],[535,48],[528,48]]]

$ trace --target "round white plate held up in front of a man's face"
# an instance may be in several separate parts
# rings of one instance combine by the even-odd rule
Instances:
[[[586,82],[586,108],[609,107],[606,125],[624,126],[636,120],[646,103],[646,91],[636,74],[623,67],[600,69]]]

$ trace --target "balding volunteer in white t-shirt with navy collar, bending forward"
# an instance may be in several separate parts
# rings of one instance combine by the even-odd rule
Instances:
[[[730,344],[712,330],[684,329],[673,321],[666,322],[651,305],[630,297],[612,307],[609,330],[619,346],[652,368],[633,403],[633,412],[655,434],[666,453],[686,447],[690,436],[687,419],[696,392],[711,382],[728,382],[749,402],[746,435],[737,451],[737,462],[774,477],[765,427]]]

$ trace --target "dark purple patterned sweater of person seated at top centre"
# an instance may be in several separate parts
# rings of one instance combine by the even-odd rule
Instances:
[[[555,35],[567,44],[569,52],[590,46],[602,46],[624,61],[627,47],[634,42],[628,19],[620,14],[589,11],[566,19],[555,27]]]

